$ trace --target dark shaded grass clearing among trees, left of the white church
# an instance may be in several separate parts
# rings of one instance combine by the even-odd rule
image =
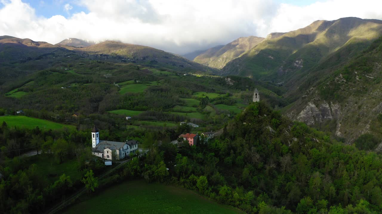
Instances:
[[[63,160],[61,164],[58,164],[54,159],[53,154],[50,157],[47,154],[34,155],[29,157],[29,163],[35,163],[37,165],[37,172],[43,177],[46,177],[50,183],[58,180],[63,173],[70,176],[70,179],[74,182],[83,177],[83,172],[77,170],[77,159]]]

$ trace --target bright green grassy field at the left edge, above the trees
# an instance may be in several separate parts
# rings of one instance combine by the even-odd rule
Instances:
[[[26,117],[26,116],[14,116],[14,115],[8,115],[0,117],[0,124],[3,123],[3,121],[6,122],[8,127],[24,127],[24,128],[36,128],[36,126],[39,126],[40,129],[60,129],[64,127],[68,128],[74,128],[72,125],[64,125],[61,123],[55,123],[49,120],[42,120],[38,118],[33,117]]]

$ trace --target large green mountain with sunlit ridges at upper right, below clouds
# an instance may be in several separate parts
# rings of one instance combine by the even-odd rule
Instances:
[[[265,39],[229,62],[221,72],[285,81],[316,66],[340,48],[359,43],[362,50],[381,34],[379,20],[350,17],[315,21],[302,29]]]

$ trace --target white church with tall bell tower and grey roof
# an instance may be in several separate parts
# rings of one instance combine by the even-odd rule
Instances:
[[[125,142],[102,141],[99,139],[99,130],[94,126],[92,129],[92,153],[97,157],[108,160],[123,159],[138,151],[138,141]]]

